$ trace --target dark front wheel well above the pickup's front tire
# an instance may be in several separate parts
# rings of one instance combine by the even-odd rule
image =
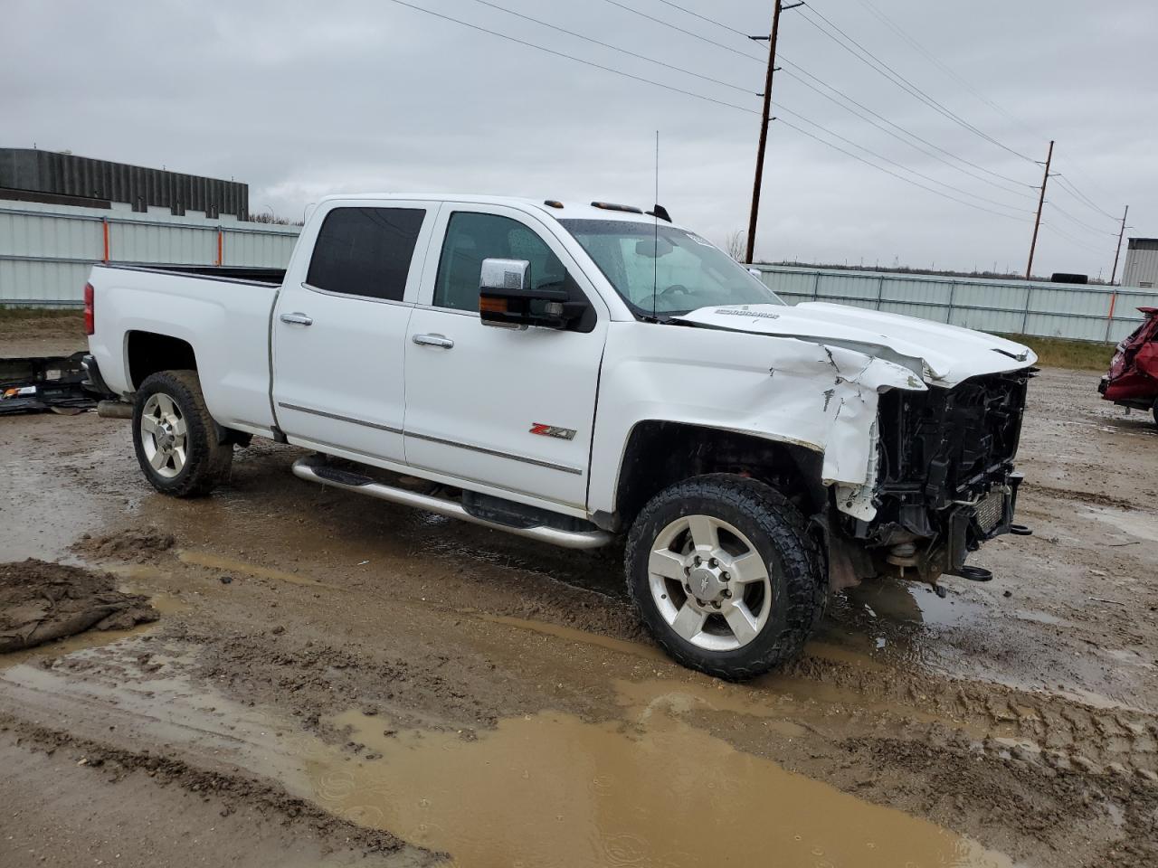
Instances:
[[[824,506],[822,456],[752,434],[668,421],[643,421],[628,439],[616,490],[616,518],[630,527],[664,488],[704,473],[738,473],[768,483],[813,515]]]

